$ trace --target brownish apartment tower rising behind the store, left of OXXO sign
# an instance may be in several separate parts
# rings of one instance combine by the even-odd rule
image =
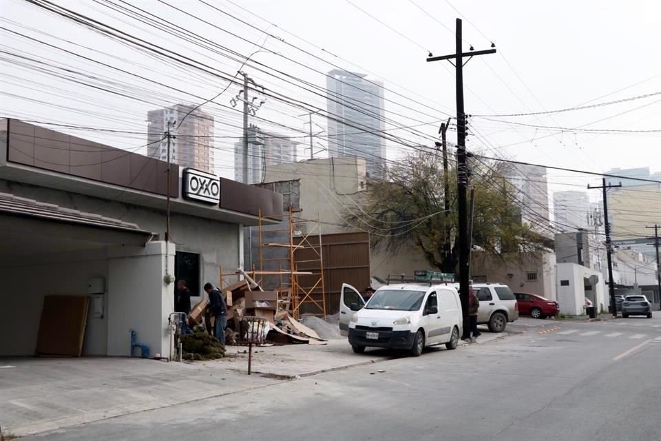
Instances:
[[[170,133],[176,137],[170,139],[170,160],[181,167],[213,173],[213,116],[195,107],[176,104],[147,112],[147,155],[167,160],[165,132],[167,121],[174,121]]]

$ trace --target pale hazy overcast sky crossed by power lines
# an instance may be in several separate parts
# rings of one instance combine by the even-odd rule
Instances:
[[[469,150],[590,172],[661,171],[660,132],[640,132],[661,130],[661,94],[571,112],[498,116],[661,92],[661,2],[655,0],[54,3],[195,67],[147,54],[26,1],[0,0],[0,116],[101,128],[50,126],[146,151],[148,110],[216,96],[203,106],[216,119],[216,173],[233,177],[233,143],[241,136],[242,120],[230,102],[239,86],[227,79],[241,68],[277,94],[280,99],[267,97],[251,123],[306,142],[307,116],[300,115],[325,110],[324,74],[338,66],[384,81],[391,122],[386,128],[407,144],[430,146],[440,122],[456,110],[452,65],[428,63],[426,57],[454,52],[454,22],[461,17],[463,50],[487,49],[491,43],[497,50],[464,68],[465,111],[473,115]],[[175,28],[168,32],[166,25]],[[188,32],[189,40],[194,32],[204,41],[185,41],[172,29]],[[250,54],[243,65],[242,57]],[[315,116],[315,123],[326,127],[322,116]],[[448,132],[448,139],[454,143],[456,134]],[[316,141],[325,145],[324,134]],[[388,141],[388,161],[410,151]],[[551,191],[596,183],[594,176],[560,170],[549,170],[548,179]]]

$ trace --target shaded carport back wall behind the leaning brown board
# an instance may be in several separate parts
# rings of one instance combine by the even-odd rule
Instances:
[[[51,294],[87,296],[87,282],[96,277],[107,280],[105,249],[22,256],[11,267],[0,268],[0,335],[3,336],[0,355],[34,355],[43,297]],[[107,302],[107,296],[104,297]],[[107,315],[92,318],[90,305],[83,354],[106,353]]]

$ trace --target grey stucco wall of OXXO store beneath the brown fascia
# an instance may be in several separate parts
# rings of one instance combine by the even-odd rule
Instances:
[[[4,180],[0,180],[0,192],[36,199],[45,203],[53,203],[61,207],[78,209],[82,212],[120,218],[127,222],[136,223],[142,229],[155,232],[160,235],[160,238],[163,238],[165,234],[165,207],[163,211],[159,211]],[[178,213],[171,214],[170,225],[171,238],[177,244],[178,251],[200,254],[200,265],[202,267],[200,287],[205,282],[218,283],[219,265],[222,265],[224,271],[225,269],[233,271],[240,265],[242,260],[239,245],[240,225],[185,216]]]

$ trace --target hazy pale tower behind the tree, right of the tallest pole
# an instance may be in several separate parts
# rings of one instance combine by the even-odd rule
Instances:
[[[510,165],[503,167],[505,179],[512,185],[521,206],[521,220],[545,236],[552,236],[549,211],[549,183],[546,167]]]

